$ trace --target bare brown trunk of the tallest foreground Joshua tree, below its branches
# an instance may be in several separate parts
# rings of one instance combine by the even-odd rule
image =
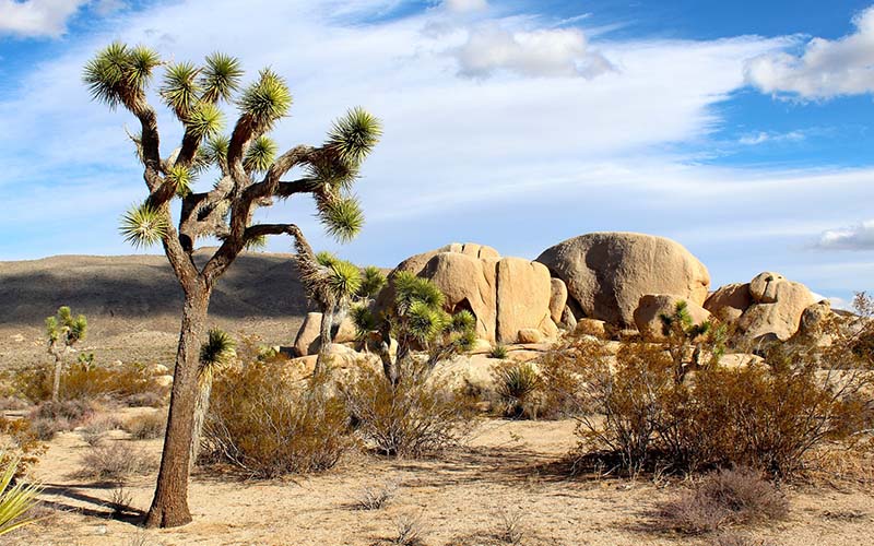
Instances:
[[[211,292],[198,284],[196,288],[186,290],[164,452],[155,497],[145,520],[147,527],[173,527],[191,521],[188,510],[191,434],[198,397],[200,339],[206,322]]]

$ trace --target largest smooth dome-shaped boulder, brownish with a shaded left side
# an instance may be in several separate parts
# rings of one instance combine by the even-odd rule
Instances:
[[[700,306],[707,268],[678,242],[633,233],[594,233],[546,249],[536,261],[564,281],[580,317],[633,327],[640,298],[670,294]]]

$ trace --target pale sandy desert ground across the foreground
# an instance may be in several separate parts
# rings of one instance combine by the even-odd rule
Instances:
[[[682,484],[568,478],[564,455],[571,422],[484,420],[470,444],[438,460],[395,461],[354,455],[328,473],[288,480],[240,482],[196,473],[194,522],[143,531],[113,520],[111,486],[74,477],[88,449],[76,432],[60,435],[36,468],[56,511],[13,536],[15,545],[373,545],[398,535],[398,521],[421,524],[425,545],[507,544],[505,517],[520,517],[521,544],[675,545],[707,539],[653,531],[658,502]],[[133,441],[120,432],[105,441]],[[157,456],[160,440],[139,441]],[[151,501],[154,475],[132,480],[132,507]],[[365,487],[395,483],[390,503],[355,508]],[[786,522],[748,530],[764,544],[857,546],[874,543],[874,497],[855,487],[793,486]]]

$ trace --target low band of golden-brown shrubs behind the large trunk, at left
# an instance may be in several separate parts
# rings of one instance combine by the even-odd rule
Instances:
[[[39,403],[51,399],[54,368],[43,365],[17,370],[13,381],[17,391],[27,400]],[[151,394],[147,394],[151,393]],[[104,367],[85,363],[73,363],[63,368],[59,397],[67,400],[97,400],[109,397],[123,401],[129,397],[155,395],[162,400],[167,388],[160,385],[147,367],[130,363]]]

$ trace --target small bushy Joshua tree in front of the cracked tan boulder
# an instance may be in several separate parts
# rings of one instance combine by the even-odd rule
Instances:
[[[392,283],[394,299],[380,317],[365,306],[353,310],[356,327],[375,342],[382,371],[392,384],[398,384],[406,367],[415,361],[414,351],[427,354],[424,360],[415,361],[427,372],[441,360],[468,351],[476,341],[473,314],[446,312],[446,297],[434,283],[405,271],[397,273]],[[392,340],[398,342],[393,355]]]

